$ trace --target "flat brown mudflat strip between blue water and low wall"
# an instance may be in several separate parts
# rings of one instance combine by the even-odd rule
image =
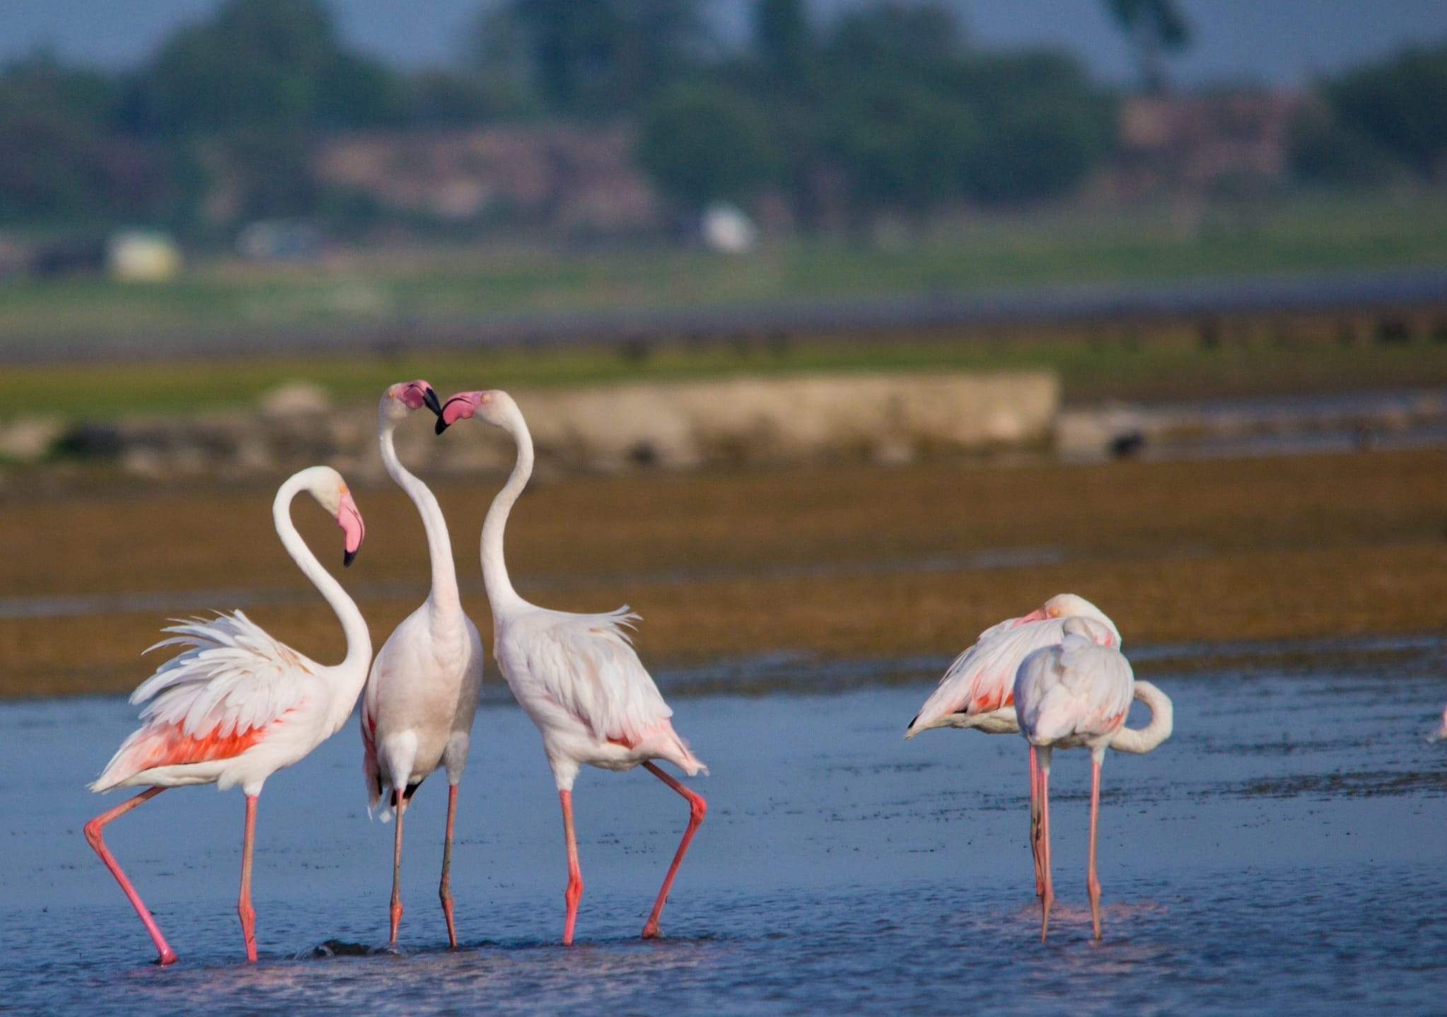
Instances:
[[[476,548],[501,482],[434,485],[488,642]],[[337,660],[334,618],[272,531],[272,492],[12,475],[0,488],[0,597],[289,592],[247,613]],[[357,503],[368,538],[346,573],[330,521],[304,502],[294,515],[360,592],[381,644],[425,595],[427,558],[395,488],[360,489]],[[1447,451],[572,477],[521,499],[508,564],[548,606],[632,605],[645,663],[946,654],[1062,590],[1098,603],[1130,645],[1433,632],[1447,628]],[[233,606],[213,600],[194,610]],[[0,618],[0,694],[130,689],[159,663],[140,650],[184,610]]]

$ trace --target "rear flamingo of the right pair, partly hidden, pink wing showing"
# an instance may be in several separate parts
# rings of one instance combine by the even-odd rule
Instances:
[[[945,668],[943,677],[920,707],[904,738],[913,738],[930,728],[975,728],[987,735],[1016,733],[1020,723],[1014,716],[1014,676],[1029,654],[1040,647],[1052,647],[1065,638],[1065,619],[1072,616],[1098,621],[1120,645],[1120,631],[1106,613],[1082,596],[1056,593],[1043,605],[1020,618],[1007,618],[991,625],[975,645],[959,654]],[[1037,843],[1039,803],[1036,801],[1036,758],[1030,746],[1030,846]],[[1035,894],[1045,893],[1040,858],[1035,859]]]

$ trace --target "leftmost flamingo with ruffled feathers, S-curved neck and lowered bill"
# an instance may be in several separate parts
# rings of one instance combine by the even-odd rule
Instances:
[[[90,786],[93,791],[146,788],[85,823],[85,839],[140,916],[156,945],[161,965],[172,963],[177,955],[106,848],[101,839],[104,826],[168,787],[216,784],[224,791],[240,784],[246,796],[246,826],[236,910],[242,919],[246,959],[255,961],[252,843],[256,799],[268,777],[300,761],[346,723],[366,680],[372,660],[366,621],[341,584],[321,567],[291,521],[291,502],[302,490],[315,498],[341,527],[343,564],[352,564],[362,545],[362,514],[341,475],[330,466],[313,466],[288,477],[272,503],[282,547],[341,621],[346,658],[330,667],[317,664],[278,642],[240,610],[211,619],[177,619],[177,625],[162,629],[174,635],[150,650],[168,645],[185,650],[158,667],[130,694],[132,703],[146,705],[140,710],[142,725],[122,742]]]

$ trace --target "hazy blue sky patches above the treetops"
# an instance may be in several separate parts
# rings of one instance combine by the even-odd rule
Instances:
[[[479,0],[327,0],[353,45],[404,67],[446,64]],[[496,0],[492,0],[496,1]],[[858,0],[852,0],[858,1]],[[1130,80],[1124,41],[1100,0],[946,0],[981,46],[1052,45],[1077,52],[1104,81]],[[0,62],[54,48],[75,62],[133,65],[177,26],[220,0],[0,0]],[[828,19],[851,0],[813,0]],[[724,38],[747,32],[748,0],[709,4]],[[1408,43],[1447,39],[1443,0],[1181,0],[1191,52],[1172,61],[1187,85],[1301,84]]]

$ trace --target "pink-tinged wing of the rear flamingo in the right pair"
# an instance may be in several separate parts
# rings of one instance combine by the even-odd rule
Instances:
[[[1011,618],[991,625],[945,670],[909,731],[923,731],[951,713],[988,713],[1009,706],[1014,702],[1020,661],[1064,638],[1064,619],[1059,618],[1024,624]]]

